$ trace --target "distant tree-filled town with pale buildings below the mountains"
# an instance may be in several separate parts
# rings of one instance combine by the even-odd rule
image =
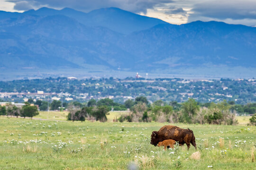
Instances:
[[[58,77],[0,81],[2,102],[43,101],[87,102],[90,99],[113,99],[123,103],[137,96],[149,102],[184,102],[193,98],[199,102],[234,101],[238,104],[256,102],[256,79],[148,79],[137,73],[135,77],[88,78]]]

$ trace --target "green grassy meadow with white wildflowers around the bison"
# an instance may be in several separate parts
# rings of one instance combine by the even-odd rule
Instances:
[[[54,122],[7,117],[0,117],[0,122],[0,170],[123,170],[130,162],[145,170],[256,167],[251,161],[256,127],[251,126],[175,124],[194,131],[201,153],[201,159],[194,160],[193,146],[189,151],[186,146],[163,151],[163,147],[149,144],[152,131],[168,123]],[[218,143],[220,137],[224,138],[223,148]],[[66,146],[59,148],[60,141]]]

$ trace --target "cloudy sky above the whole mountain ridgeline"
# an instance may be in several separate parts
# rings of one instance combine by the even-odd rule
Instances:
[[[83,12],[116,7],[171,24],[223,21],[256,26],[256,0],[0,0],[0,10],[23,12],[42,7]]]

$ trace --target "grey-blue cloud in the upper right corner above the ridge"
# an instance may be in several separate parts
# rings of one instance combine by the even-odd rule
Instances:
[[[210,17],[217,19],[255,19],[256,0],[210,0],[195,4],[191,17]]]

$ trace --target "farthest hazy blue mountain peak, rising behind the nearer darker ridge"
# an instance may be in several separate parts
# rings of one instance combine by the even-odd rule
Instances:
[[[38,16],[64,15],[75,18],[85,26],[103,26],[122,34],[145,30],[158,24],[166,24],[160,19],[140,16],[119,8],[101,8],[83,13],[71,8],[55,10],[44,7],[38,10],[28,10],[24,14]]]

